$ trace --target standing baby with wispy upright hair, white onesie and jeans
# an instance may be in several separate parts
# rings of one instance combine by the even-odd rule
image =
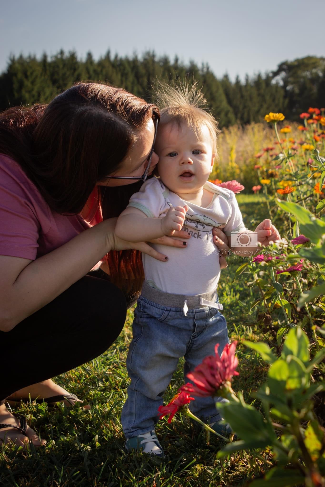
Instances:
[[[145,282],[134,310],[126,362],[131,379],[121,415],[126,449],[159,456],[163,450],[154,425],[179,357],[185,357],[186,375],[214,354],[216,343],[221,354],[229,342],[217,295],[219,249],[212,229],[221,227],[227,236],[249,232],[235,194],[208,182],[217,155],[218,127],[212,115],[200,108],[205,101],[202,94],[195,88],[167,87],[162,98],[165,108],[154,148],[159,178],[146,181],[131,197],[115,228],[118,237],[134,242],[172,235],[182,228],[191,234],[184,251],[169,248],[166,262],[142,255]],[[279,238],[268,220],[255,232],[259,242]],[[165,252],[163,245],[153,246]],[[238,246],[234,251],[240,254],[246,248]],[[196,398],[190,408],[215,431],[231,432],[222,422],[215,398]]]

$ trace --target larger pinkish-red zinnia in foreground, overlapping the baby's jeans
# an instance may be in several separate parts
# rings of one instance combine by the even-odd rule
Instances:
[[[227,343],[221,357],[218,354],[219,343],[214,348],[215,355],[203,359],[203,362],[195,367],[187,377],[194,385],[187,384],[183,390],[193,393],[194,396],[206,397],[217,395],[219,389],[230,382],[233,375],[239,375],[236,371],[238,358],[235,356],[237,341],[230,345]]]

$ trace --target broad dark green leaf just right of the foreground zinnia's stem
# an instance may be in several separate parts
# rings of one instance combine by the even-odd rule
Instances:
[[[258,448],[265,448],[276,441],[272,426],[253,406],[243,402],[218,402],[218,410],[232,430],[244,441],[251,443],[254,438],[254,441],[264,445]]]

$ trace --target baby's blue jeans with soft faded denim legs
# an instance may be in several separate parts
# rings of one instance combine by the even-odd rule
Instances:
[[[218,302],[218,300],[216,301]],[[140,296],[134,310],[133,340],[126,365],[131,379],[121,422],[126,438],[152,431],[158,421],[158,407],[178,359],[185,357],[186,374],[193,371],[203,358],[214,355],[219,343],[221,355],[229,343],[225,317],[215,308],[204,306],[189,309],[170,308]],[[190,404],[193,414],[209,423],[218,421],[215,402],[222,398],[197,397]]]

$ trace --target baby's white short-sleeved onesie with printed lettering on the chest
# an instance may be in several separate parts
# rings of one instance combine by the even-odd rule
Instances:
[[[168,255],[167,262],[142,254],[145,281],[160,291],[188,296],[214,291],[219,281],[220,264],[219,250],[212,241],[212,228],[224,225],[227,236],[233,231],[247,230],[233,191],[210,182],[204,188],[213,193],[207,208],[182,200],[156,177],[147,180],[130,199],[128,206],[140,209],[149,218],[165,216],[172,206],[189,206],[183,226],[183,230],[191,234],[187,248],[150,244],[158,252]]]

